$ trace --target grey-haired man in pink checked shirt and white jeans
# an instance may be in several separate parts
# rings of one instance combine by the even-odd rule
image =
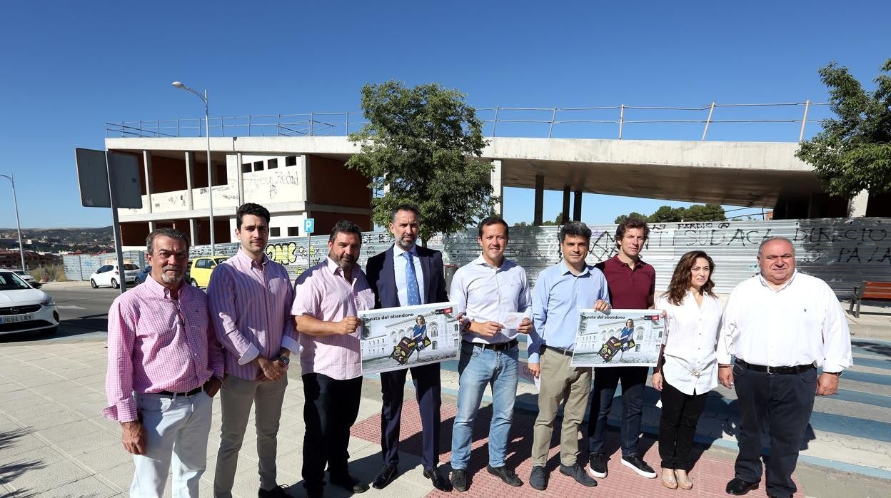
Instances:
[[[184,285],[189,241],[159,228],[146,239],[151,278],[109,309],[109,406],[135,466],[130,496],[161,496],[171,460],[173,494],[197,497],[207,465],[211,398],[223,351],[209,328],[207,297]]]

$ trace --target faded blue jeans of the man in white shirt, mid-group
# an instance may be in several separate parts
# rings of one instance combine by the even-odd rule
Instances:
[[[495,351],[461,343],[458,362],[458,413],[452,431],[452,468],[467,469],[473,421],[486,386],[492,386],[492,423],[489,426],[489,465],[503,467],[508,432],[517,398],[518,347]]]

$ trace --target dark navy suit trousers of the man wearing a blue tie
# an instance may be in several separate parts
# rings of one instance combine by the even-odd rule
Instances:
[[[421,466],[435,469],[439,465],[439,409],[442,406],[439,363],[412,367],[414,393],[421,411]],[[383,406],[380,408],[380,451],[384,463],[399,462],[399,427],[402,424],[402,401],[407,371],[385,371],[380,374]]]

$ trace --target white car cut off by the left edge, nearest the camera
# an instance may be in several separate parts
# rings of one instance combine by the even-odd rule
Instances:
[[[0,270],[0,334],[42,331],[52,334],[59,328],[55,300],[43,290],[32,289],[19,275]]]

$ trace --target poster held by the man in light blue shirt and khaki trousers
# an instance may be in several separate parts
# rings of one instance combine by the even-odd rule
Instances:
[[[658,309],[583,309],[572,366],[656,366],[663,333]]]

